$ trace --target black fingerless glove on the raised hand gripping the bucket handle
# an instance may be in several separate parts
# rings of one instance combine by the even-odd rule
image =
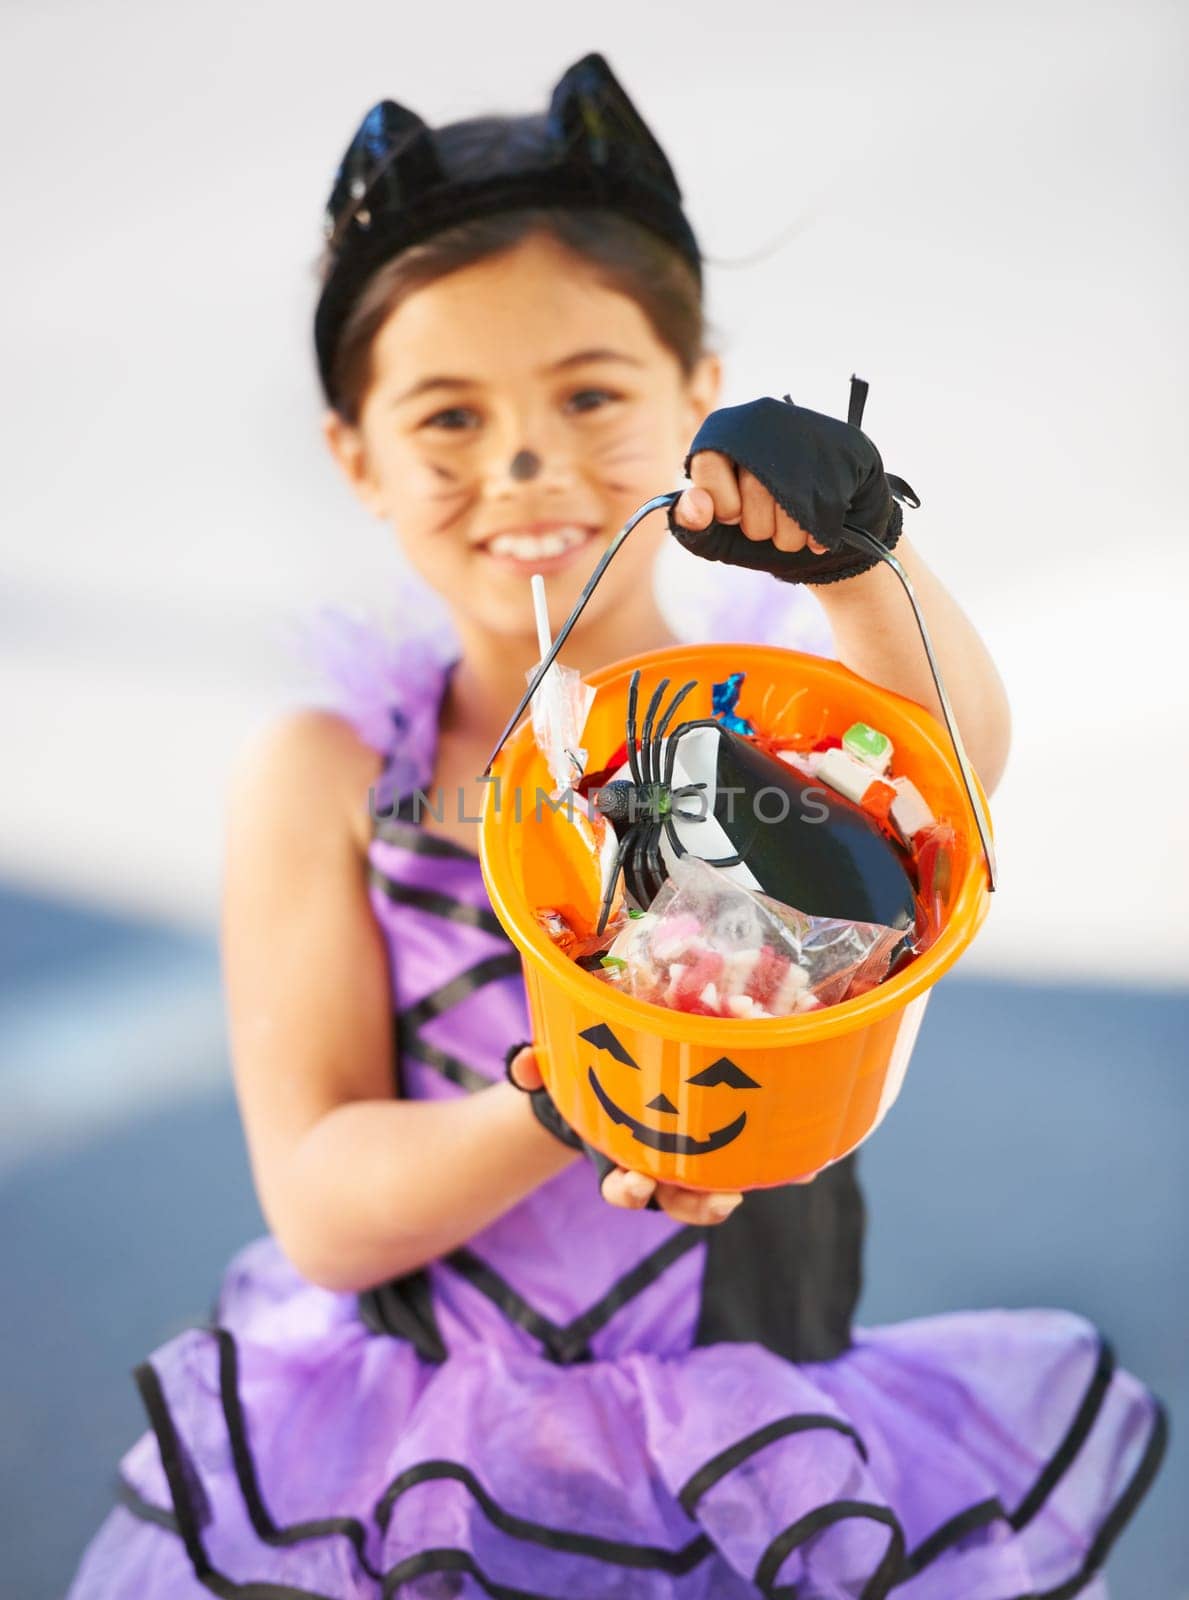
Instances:
[[[883,470],[879,450],[861,432],[866,394],[863,379],[851,379],[847,422],[807,411],[787,395],[723,406],[706,418],[685,458],[687,475],[701,450],[715,450],[746,467],[808,534],[829,546],[824,555],[778,550],[771,539],[749,539],[736,523],[682,528],[671,506],[669,530],[677,542],[707,562],[751,566],[791,584],[832,584],[875,566],[877,555],[847,544],[843,522],[890,550],[903,531],[898,501],[920,501],[903,478]]]

